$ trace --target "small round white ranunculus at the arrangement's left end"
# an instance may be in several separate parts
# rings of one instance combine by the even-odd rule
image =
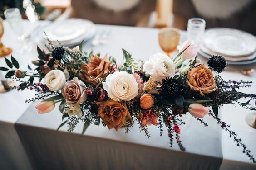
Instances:
[[[64,87],[65,82],[65,74],[60,70],[51,70],[44,76],[44,83],[51,91],[59,91]]]

